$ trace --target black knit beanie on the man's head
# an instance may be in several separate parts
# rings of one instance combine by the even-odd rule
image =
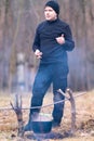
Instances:
[[[45,3],[45,7],[51,7],[57,13],[57,15],[59,14],[59,5],[56,1],[54,0],[49,1]]]

